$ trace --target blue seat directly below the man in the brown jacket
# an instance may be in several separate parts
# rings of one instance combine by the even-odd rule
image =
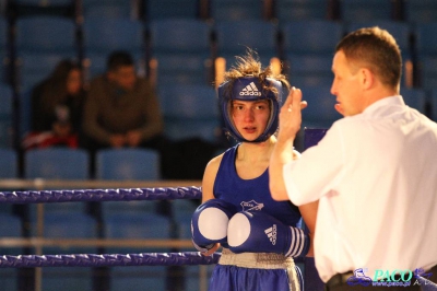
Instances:
[[[160,179],[160,153],[150,149],[105,149],[96,153],[99,179]]]

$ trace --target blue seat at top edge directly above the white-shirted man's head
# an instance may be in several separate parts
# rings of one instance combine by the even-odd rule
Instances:
[[[347,0],[340,1],[341,19],[345,22],[357,20],[390,20],[390,0]]]

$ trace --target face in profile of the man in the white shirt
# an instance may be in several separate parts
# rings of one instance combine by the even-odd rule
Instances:
[[[353,116],[364,110],[364,97],[359,69],[353,67],[342,50],[338,51],[332,62],[334,81],[331,94],[336,96],[335,109],[343,116]]]

